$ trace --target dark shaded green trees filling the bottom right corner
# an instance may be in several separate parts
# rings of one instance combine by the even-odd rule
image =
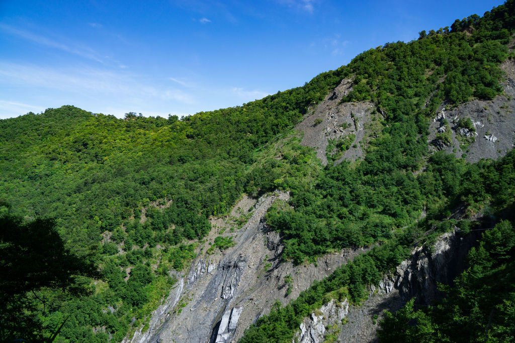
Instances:
[[[501,221],[485,231],[479,246],[468,255],[469,267],[445,297],[434,306],[414,310],[414,300],[395,312],[387,312],[379,338],[398,341],[512,341],[515,278],[512,223]]]

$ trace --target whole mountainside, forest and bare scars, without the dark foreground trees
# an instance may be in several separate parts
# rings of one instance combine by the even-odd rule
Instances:
[[[352,336],[342,319],[415,246],[513,220],[513,13],[182,120],[63,106],[0,121],[0,213],[56,218],[103,275],[74,285],[87,297],[27,292],[35,326],[7,338],[289,342],[321,332],[318,311],[337,318],[320,337]]]

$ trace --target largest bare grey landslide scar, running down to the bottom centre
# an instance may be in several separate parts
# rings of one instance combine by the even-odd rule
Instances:
[[[191,268],[178,275],[178,285],[155,311],[150,328],[126,342],[231,342],[267,314],[276,300],[283,304],[330,275],[364,249],[344,249],[318,259],[317,264],[294,266],[281,262],[283,246],[270,231],[264,215],[287,193],[265,195],[251,208],[246,224],[232,235],[234,247],[223,252],[199,252]],[[214,230],[222,221],[215,220]],[[289,288],[289,291],[288,291]]]

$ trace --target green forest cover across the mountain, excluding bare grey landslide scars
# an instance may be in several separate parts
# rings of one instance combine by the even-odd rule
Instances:
[[[243,192],[290,194],[288,203],[275,203],[266,215],[284,246],[273,267],[375,246],[291,305],[276,306],[244,341],[291,341],[302,318],[331,297],[358,303],[366,287],[406,258],[426,232],[470,229],[478,213],[511,223],[506,213],[513,209],[513,153],[471,165],[432,153],[428,128],[442,106],[452,110],[472,99],[503,97],[510,79],[500,65],[513,59],[513,4],[456,21],[451,29],[421,32],[417,41],[371,49],[302,87],[230,109],[181,120],[133,113],[116,119],[63,106],[0,121],[2,215],[28,223],[55,219],[66,248],[87,256],[102,273],[77,285],[90,295],[46,286],[19,294],[22,305],[30,303],[24,315],[33,326],[20,327],[18,308],[7,307],[0,315],[0,339],[120,341],[144,327],[175,282],[170,270],[184,272],[209,244],[221,255],[231,249],[237,228],[204,238],[212,231],[212,216],[230,214]],[[338,94],[342,80],[351,83]],[[346,122],[328,140],[325,153],[332,163],[325,168],[293,131],[302,120],[329,128],[310,117],[322,100],[336,107],[371,106],[363,141],[356,140],[362,117],[352,106],[345,107],[349,113],[341,111]],[[501,110],[513,120],[511,107]],[[442,121],[438,129],[449,129],[430,139],[435,150],[458,137],[449,138],[451,126],[471,133],[456,138],[464,153],[473,139],[486,139],[473,135],[470,117],[455,120]],[[362,159],[340,158],[358,144]],[[452,219],[457,207],[468,216]],[[417,224],[422,213],[426,220]],[[502,232],[509,231],[503,225]],[[177,306],[187,306],[187,299]]]

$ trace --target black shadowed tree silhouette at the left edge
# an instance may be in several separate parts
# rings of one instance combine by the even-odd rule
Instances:
[[[84,276],[100,275],[90,256],[78,257],[64,246],[53,220],[24,223],[11,215],[0,217],[0,341],[54,340],[67,318],[43,336],[34,312],[46,303],[37,292],[87,294],[78,282]]]

